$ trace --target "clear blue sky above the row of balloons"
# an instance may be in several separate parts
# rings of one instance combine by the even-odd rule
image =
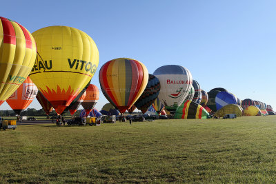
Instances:
[[[30,32],[67,25],[99,49],[92,83],[111,59],[129,57],[152,74],[161,65],[188,68],[203,90],[226,88],[276,110],[276,1],[3,1],[1,17]],[[100,93],[98,110],[108,101]],[[35,100],[28,108],[40,109]],[[7,103],[0,110],[10,110]]]

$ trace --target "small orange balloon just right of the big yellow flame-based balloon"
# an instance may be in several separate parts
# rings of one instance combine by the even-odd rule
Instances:
[[[86,114],[95,107],[97,101],[99,100],[99,89],[96,85],[90,84],[86,89],[86,97],[83,99],[81,106],[86,110]]]

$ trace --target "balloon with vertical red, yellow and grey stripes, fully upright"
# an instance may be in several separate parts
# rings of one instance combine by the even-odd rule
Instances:
[[[99,83],[106,99],[124,113],[144,92],[148,70],[135,59],[113,59],[101,67]]]

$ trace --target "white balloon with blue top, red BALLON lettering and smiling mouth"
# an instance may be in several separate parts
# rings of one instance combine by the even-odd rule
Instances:
[[[186,99],[193,85],[190,71],[180,65],[164,65],[153,74],[159,79],[161,89],[159,99],[171,114]]]

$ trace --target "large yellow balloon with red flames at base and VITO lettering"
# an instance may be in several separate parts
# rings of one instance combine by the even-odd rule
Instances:
[[[61,114],[95,74],[97,45],[85,32],[67,26],[41,28],[32,36],[39,55],[30,78]]]

